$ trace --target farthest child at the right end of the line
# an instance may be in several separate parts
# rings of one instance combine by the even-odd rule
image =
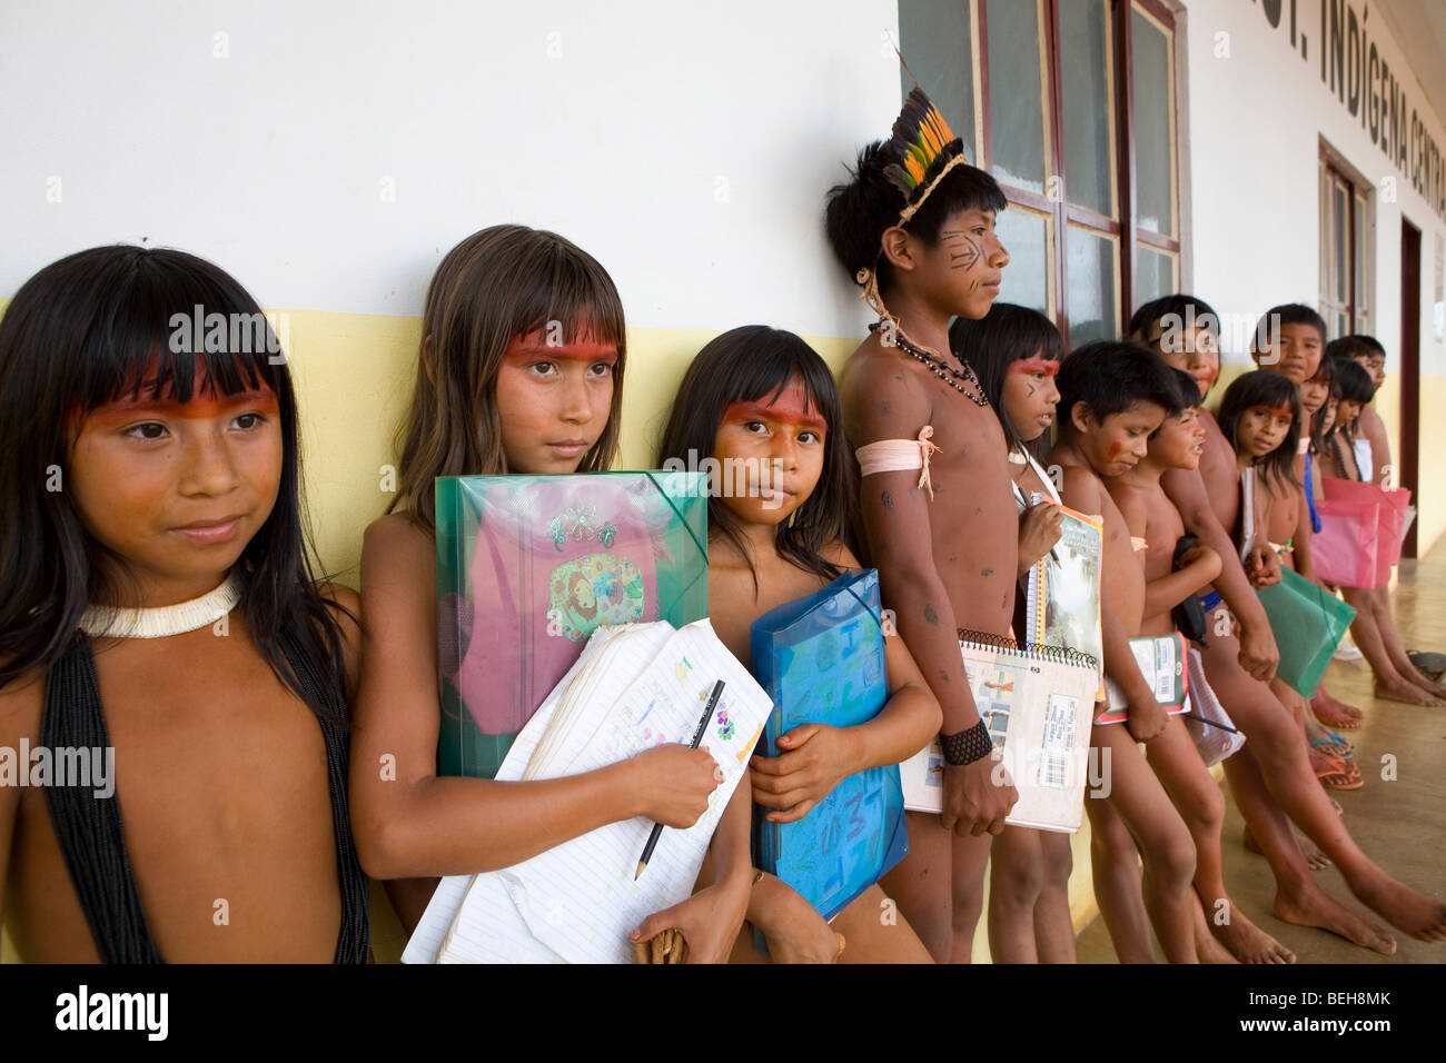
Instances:
[[[1325,434],[1322,471],[1343,480],[1371,482],[1372,448],[1361,437],[1359,418],[1375,395],[1375,385],[1368,370],[1355,359],[1335,359],[1336,379],[1340,383],[1340,404],[1336,408],[1335,424]],[[1358,444],[1365,444],[1364,453]],[[1401,636],[1395,631],[1391,615],[1391,593],[1388,587],[1342,587],[1345,600],[1355,606],[1356,616],[1351,622],[1351,635],[1365,654],[1375,675],[1375,696],[1388,701],[1408,704],[1446,704],[1446,687],[1433,683],[1406,654]]]

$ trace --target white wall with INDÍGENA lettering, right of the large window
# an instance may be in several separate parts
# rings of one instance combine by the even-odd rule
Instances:
[[[1374,197],[1371,333],[1400,369],[1401,217],[1421,230],[1421,373],[1446,373],[1446,343],[1432,327],[1430,278],[1436,217],[1361,119],[1320,81],[1320,4],[1297,4],[1297,33],[1309,58],[1291,49],[1287,14],[1272,29],[1249,0],[1189,0],[1189,106],[1194,291],[1222,314],[1255,317],[1280,302],[1314,305],[1319,296],[1320,215],[1317,155],[1325,137],[1377,189],[1394,178],[1397,201]],[[1358,13],[1362,10],[1356,0]],[[1440,117],[1408,72],[1384,20],[1368,19],[1369,40],[1406,90],[1436,145],[1446,150]],[[1228,35],[1222,38],[1219,35]],[[1222,48],[1223,45],[1223,48]],[[1218,52],[1228,48],[1228,56]],[[1244,350],[1232,360],[1244,360]]]

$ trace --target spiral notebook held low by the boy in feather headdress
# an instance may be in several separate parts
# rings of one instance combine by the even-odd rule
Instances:
[[[969,690],[1019,791],[1006,823],[1073,834],[1084,814],[1089,729],[1099,673],[1095,658],[1061,646],[1014,645],[960,632]],[[943,808],[944,751],[934,739],[899,765],[904,807]]]

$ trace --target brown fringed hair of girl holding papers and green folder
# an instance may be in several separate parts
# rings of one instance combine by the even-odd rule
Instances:
[[[552,325],[551,323],[558,323]],[[573,242],[526,226],[473,233],[442,259],[427,288],[412,406],[398,434],[398,492],[412,518],[437,525],[438,476],[500,476],[497,372],[516,336],[561,328],[561,341],[617,346],[607,427],[577,471],[596,473],[617,456],[626,330],[617,288],[597,259]]]

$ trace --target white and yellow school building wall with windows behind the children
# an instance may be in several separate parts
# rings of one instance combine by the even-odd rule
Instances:
[[[100,243],[236,275],[286,344],[343,581],[395,487],[427,282],[477,229],[554,229],[616,279],[625,467],[719,331],[842,366],[869,314],[823,200],[911,84],[894,42],[1009,195],[1004,298],[1079,343],[1194,292],[1222,382],[1274,304],[1375,334],[1420,552],[1446,531],[1446,4],[19,0],[0,36],[0,308]]]

